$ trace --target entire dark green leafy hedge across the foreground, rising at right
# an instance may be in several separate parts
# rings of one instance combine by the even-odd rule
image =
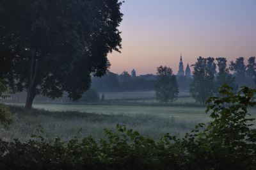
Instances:
[[[256,91],[230,91],[223,86],[221,97],[207,100],[213,120],[183,139],[166,134],[154,141],[117,125],[99,142],[89,136],[64,143],[45,140],[40,127],[27,143],[0,140],[0,169],[255,169],[256,130],[246,116]]]

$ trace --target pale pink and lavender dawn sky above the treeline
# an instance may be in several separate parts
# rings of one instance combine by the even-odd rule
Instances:
[[[108,55],[111,72],[179,69],[198,56],[228,61],[256,56],[256,0],[126,0],[119,30],[122,53]]]

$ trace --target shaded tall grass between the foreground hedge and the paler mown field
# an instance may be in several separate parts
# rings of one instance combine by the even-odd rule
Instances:
[[[126,125],[127,128],[138,130],[143,135],[158,139],[161,135],[170,133],[183,136],[195,124],[195,120],[180,120],[173,116],[157,116],[152,114],[92,114],[77,111],[54,112],[42,109],[24,111],[22,107],[10,106],[12,112],[17,113],[17,121],[8,129],[0,130],[0,138],[10,141],[19,138],[28,141],[31,134],[36,133],[36,126],[44,128],[47,139],[61,137],[63,140],[74,136],[92,135],[99,139],[104,137],[103,128],[115,129],[116,124]]]

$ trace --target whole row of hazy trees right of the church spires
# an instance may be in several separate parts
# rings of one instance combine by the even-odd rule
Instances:
[[[204,103],[208,97],[217,95],[218,88],[223,84],[228,84],[233,91],[237,91],[240,86],[253,88],[256,85],[255,57],[248,58],[247,65],[244,64],[244,58],[237,58],[230,62],[229,67],[226,58],[199,57],[193,66],[190,93],[196,102]]]

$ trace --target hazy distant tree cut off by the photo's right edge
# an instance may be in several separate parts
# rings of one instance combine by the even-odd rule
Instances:
[[[246,77],[248,79],[248,86],[255,86],[256,81],[256,62],[255,57],[248,58],[248,65],[246,66]]]

